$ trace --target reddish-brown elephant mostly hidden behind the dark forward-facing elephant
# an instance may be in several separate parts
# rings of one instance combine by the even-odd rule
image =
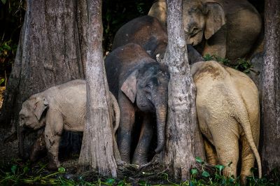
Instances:
[[[127,43],[136,43],[141,45],[153,59],[160,62],[165,56],[167,41],[167,32],[160,22],[155,17],[145,15],[137,17],[120,27],[114,37],[112,48],[114,50]],[[200,54],[192,45],[187,45],[187,47],[190,64],[203,60],[199,58]],[[197,61],[193,59],[197,59]]]

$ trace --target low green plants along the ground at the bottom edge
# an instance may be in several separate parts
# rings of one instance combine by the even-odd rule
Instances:
[[[92,181],[88,181],[83,176],[76,176],[73,178],[67,178],[67,170],[64,167],[59,167],[55,172],[48,172],[45,169],[46,164],[38,162],[37,164],[31,164],[29,162],[23,162],[21,159],[13,159],[8,164],[0,164],[0,185],[176,185],[176,186],[204,186],[204,185],[232,185],[239,186],[239,178],[233,176],[223,175],[223,169],[225,166],[216,165],[214,168],[216,172],[209,173],[205,170],[206,162],[200,157],[196,158],[196,161],[202,165],[202,171],[197,169],[191,169],[190,180],[182,181],[181,183],[172,182],[169,180],[167,173],[160,173],[158,178],[158,184],[148,183],[147,180],[142,179],[137,183],[130,183],[126,178],[118,180],[114,178],[97,178]],[[227,165],[230,166],[231,162]],[[255,178],[257,169],[251,169],[252,176],[247,177],[247,185],[280,185],[280,171],[274,169],[269,176],[264,178]],[[144,174],[149,176],[149,174]]]

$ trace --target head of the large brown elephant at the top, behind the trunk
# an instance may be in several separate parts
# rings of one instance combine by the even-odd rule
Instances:
[[[156,1],[148,15],[158,18],[165,26],[166,3]],[[165,19],[165,20],[163,20]],[[197,45],[209,39],[225,24],[222,6],[211,0],[183,0],[183,28],[188,44]]]

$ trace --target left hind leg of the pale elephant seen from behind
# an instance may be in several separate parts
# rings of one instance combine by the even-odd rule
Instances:
[[[233,175],[237,178],[237,162],[239,158],[238,124],[230,124],[230,119],[225,120],[228,123],[223,125],[217,124],[215,130],[211,129],[211,134],[214,139],[219,163],[225,166],[225,176]],[[230,162],[232,163],[228,166]]]

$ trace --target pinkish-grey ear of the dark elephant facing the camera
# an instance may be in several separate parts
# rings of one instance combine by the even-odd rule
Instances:
[[[134,103],[137,93],[137,75],[138,70],[133,71],[130,76],[127,77],[122,87],[120,87],[120,90],[123,91],[123,93],[130,99],[130,101],[132,101],[132,103]]]

